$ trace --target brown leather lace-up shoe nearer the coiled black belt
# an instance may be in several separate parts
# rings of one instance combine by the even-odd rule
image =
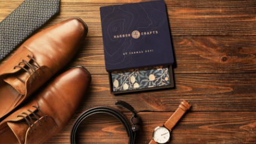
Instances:
[[[57,76],[0,123],[0,143],[45,142],[70,121],[90,81],[82,66]]]

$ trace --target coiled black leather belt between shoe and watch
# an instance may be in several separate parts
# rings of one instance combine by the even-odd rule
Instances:
[[[140,130],[140,116],[137,116],[137,112],[134,110],[134,108],[127,104],[125,101],[118,100],[115,103],[117,106],[125,107],[127,110],[132,112],[132,117],[131,117],[131,123],[132,126],[130,125],[130,122],[126,119],[126,117],[117,109],[114,107],[108,107],[108,106],[98,106],[98,107],[93,107],[92,109],[89,109],[83,114],[81,114],[75,121],[75,124],[72,127],[71,130],[71,137],[70,137],[70,142],[71,143],[76,143],[76,131],[79,125],[83,120],[85,120],[88,116],[91,116],[93,114],[109,114],[114,117],[116,117],[117,120],[121,122],[121,124],[125,127],[125,130],[127,132],[127,135],[129,136],[129,143],[133,144],[135,142],[135,137],[136,133],[138,130]]]

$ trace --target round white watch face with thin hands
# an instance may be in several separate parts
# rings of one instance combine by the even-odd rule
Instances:
[[[157,143],[166,143],[170,139],[170,131],[163,126],[156,127],[153,138]]]

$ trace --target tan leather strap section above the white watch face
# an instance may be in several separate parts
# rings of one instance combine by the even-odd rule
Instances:
[[[164,126],[168,128],[168,130],[171,130],[177,124],[180,118],[185,114],[185,112],[189,109],[190,104],[185,100],[182,101],[174,114],[171,115],[171,117],[165,122]]]

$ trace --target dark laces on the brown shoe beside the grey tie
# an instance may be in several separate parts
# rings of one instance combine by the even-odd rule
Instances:
[[[31,55],[27,55],[29,58],[31,58],[33,61],[35,61],[35,64],[29,64],[27,60],[22,60],[21,62],[19,62],[18,65],[14,66],[13,69],[16,69],[16,68],[21,68],[25,71],[27,71],[27,73],[29,74],[30,78],[31,78],[31,81],[30,81],[30,84],[32,84],[32,81],[36,79],[36,76],[35,76],[35,73],[40,76],[40,74],[38,73],[38,71],[36,71],[37,68],[40,68],[43,72],[45,72],[45,70],[43,70],[43,68],[37,63],[37,61],[31,56]],[[25,69],[23,66],[21,66],[21,64],[24,64],[24,65],[27,65],[28,68],[31,69],[31,71]],[[33,75],[34,74],[34,75]],[[18,78],[18,76],[15,76],[18,80],[22,81],[23,83],[26,83],[24,80],[22,80],[21,78]]]

